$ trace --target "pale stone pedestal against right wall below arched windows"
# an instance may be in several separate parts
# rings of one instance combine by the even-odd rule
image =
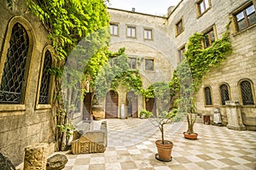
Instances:
[[[241,105],[239,101],[226,101],[226,112],[228,118],[227,127],[234,130],[245,130],[241,119]]]

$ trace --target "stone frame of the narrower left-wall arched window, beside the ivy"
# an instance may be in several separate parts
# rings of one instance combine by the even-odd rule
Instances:
[[[48,104],[39,104],[39,96],[40,96],[40,89],[41,89],[41,80],[42,80],[42,76],[43,76],[43,68],[44,68],[44,57],[45,57],[45,53],[46,51],[49,51],[49,53],[51,54],[51,59],[52,59],[52,63],[51,63],[51,67],[53,68],[55,66],[55,59],[54,59],[54,48],[50,45],[47,45],[44,47],[43,49],[43,53],[42,53],[42,58],[41,58],[41,65],[40,65],[40,74],[38,77],[38,93],[37,93],[37,103],[36,103],[36,108],[37,109],[46,109],[46,108],[51,108],[51,104],[53,102],[53,94],[54,94],[54,82],[55,82],[55,77],[54,76],[50,76],[49,78],[49,101]]]

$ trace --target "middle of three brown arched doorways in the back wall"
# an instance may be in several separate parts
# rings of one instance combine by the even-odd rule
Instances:
[[[128,108],[128,116],[137,117],[137,95],[130,91],[126,95],[126,102]]]

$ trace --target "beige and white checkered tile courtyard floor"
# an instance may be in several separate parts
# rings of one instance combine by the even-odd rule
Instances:
[[[172,140],[172,161],[154,158],[155,139],[160,131],[143,119],[108,119],[108,148],[104,153],[67,154],[65,170],[201,170],[256,169],[256,132],[195,123],[197,140],[183,138],[186,122],[165,125],[165,137]],[[95,125],[97,126],[96,122]]]

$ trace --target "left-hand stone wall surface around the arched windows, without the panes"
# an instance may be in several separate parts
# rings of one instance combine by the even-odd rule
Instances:
[[[38,105],[38,81],[43,51],[50,42],[47,39],[47,31],[38,18],[26,11],[25,1],[14,1],[13,10],[7,7],[6,1],[1,1],[0,15],[1,62],[5,58],[3,55],[5,38],[12,30],[9,23],[19,22],[26,28],[32,41],[32,55],[28,77],[25,80],[27,83],[23,104],[0,104],[0,152],[17,166],[23,161],[24,149],[27,145],[55,142],[55,111],[51,105]],[[3,63],[0,63],[0,78],[2,74]]]

